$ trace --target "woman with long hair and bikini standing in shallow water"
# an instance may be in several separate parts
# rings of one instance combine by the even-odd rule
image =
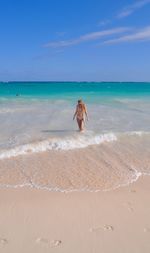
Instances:
[[[86,106],[82,102],[82,100],[78,100],[78,104],[77,104],[77,107],[76,107],[75,114],[73,116],[73,120],[76,117],[77,123],[78,123],[78,126],[79,126],[79,131],[83,131],[85,115],[86,115],[86,118],[88,120],[88,114],[87,114]]]

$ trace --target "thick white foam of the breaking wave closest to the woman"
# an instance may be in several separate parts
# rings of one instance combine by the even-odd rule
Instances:
[[[83,134],[76,137],[62,138],[62,139],[49,139],[41,142],[21,145],[10,150],[4,150],[0,153],[0,160],[16,157],[18,155],[25,155],[29,153],[39,153],[48,150],[72,150],[79,148],[86,148],[90,145],[98,145],[103,142],[116,141],[117,136],[113,133],[101,135],[87,135]]]

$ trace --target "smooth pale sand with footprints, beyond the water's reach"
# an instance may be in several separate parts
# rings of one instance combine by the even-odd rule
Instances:
[[[0,189],[0,252],[149,253],[150,177],[107,192]]]

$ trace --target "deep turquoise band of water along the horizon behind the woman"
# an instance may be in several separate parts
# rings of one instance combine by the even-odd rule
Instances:
[[[97,97],[150,96],[150,83],[124,82],[8,82],[0,83],[0,97],[64,98],[83,97],[87,100]]]

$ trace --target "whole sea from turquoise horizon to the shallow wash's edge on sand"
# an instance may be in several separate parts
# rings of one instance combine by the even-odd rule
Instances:
[[[108,190],[149,175],[149,164],[150,83],[0,82],[1,187]]]

